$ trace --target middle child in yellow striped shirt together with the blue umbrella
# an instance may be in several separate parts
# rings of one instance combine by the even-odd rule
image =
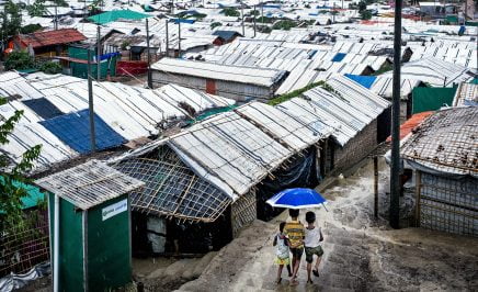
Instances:
[[[291,243],[293,276],[291,279],[291,285],[296,285],[297,272],[300,266],[300,258],[304,254],[304,239],[305,227],[298,221],[299,209],[306,207],[326,207],[326,199],[323,199],[318,192],[311,189],[287,189],[284,190],[266,201],[268,204],[273,207],[288,207],[288,214],[292,222],[286,223],[284,227],[284,234],[288,237]],[[327,207],[326,207],[327,211]]]

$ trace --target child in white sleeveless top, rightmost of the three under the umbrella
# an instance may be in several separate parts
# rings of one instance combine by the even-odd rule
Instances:
[[[323,235],[320,227],[315,226],[316,213],[306,213],[307,227],[305,229],[306,237],[304,239],[304,245],[306,249],[306,261],[307,261],[307,283],[312,283],[310,279],[310,271],[312,269],[314,255],[317,256],[316,266],[314,269],[314,276],[319,277],[319,265],[322,259],[323,250],[320,243],[323,242]]]

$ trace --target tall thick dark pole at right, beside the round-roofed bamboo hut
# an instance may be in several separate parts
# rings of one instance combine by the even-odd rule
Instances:
[[[390,226],[400,227],[400,55],[401,4],[395,1],[394,87],[391,100]]]

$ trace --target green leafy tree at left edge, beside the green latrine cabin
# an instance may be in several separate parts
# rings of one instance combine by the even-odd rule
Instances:
[[[0,98],[0,104],[7,103],[4,98]],[[23,111],[15,113],[2,121],[0,124],[0,146],[9,144],[9,136],[12,133],[15,124],[19,123],[23,115]],[[3,214],[3,228],[22,226],[26,224],[22,213],[21,199],[26,196],[26,190],[20,183],[29,183],[25,173],[33,169],[34,162],[39,156],[41,145],[36,145],[27,149],[19,162],[12,167],[11,160],[3,154],[0,154],[0,175],[2,183],[0,183],[0,210]],[[10,170],[9,170],[10,169]]]

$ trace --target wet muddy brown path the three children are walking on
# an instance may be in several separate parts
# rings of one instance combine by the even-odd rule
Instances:
[[[380,181],[387,180],[384,161],[379,169]],[[314,284],[306,284],[305,259],[299,285],[289,287],[285,272],[282,284],[274,283],[272,238],[277,222],[286,218],[282,214],[273,222],[254,222],[179,291],[478,291],[478,239],[421,228],[392,231],[384,220],[375,221],[372,171],[367,164],[322,192],[329,212],[314,211],[326,254]]]

